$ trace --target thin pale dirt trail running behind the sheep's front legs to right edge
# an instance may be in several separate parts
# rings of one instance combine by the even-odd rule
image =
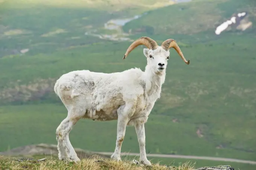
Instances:
[[[112,155],[112,152],[96,152],[103,155]],[[139,153],[121,153],[121,155],[127,156],[139,156]],[[183,158],[183,159],[204,159],[210,161],[225,161],[225,162],[238,162],[244,164],[256,165],[256,161],[248,161],[242,159],[232,159],[232,158],[220,158],[220,157],[210,157],[210,156],[192,156],[192,155],[165,155],[165,154],[147,154],[148,157],[159,157],[159,158]]]

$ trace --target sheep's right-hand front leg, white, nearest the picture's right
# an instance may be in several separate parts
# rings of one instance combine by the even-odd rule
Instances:
[[[144,165],[151,165],[150,161],[146,157],[146,137],[145,137],[145,127],[144,123],[137,123],[135,125],[136,134],[140,146],[140,162]]]

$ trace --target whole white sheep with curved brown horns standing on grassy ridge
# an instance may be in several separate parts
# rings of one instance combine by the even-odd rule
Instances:
[[[54,86],[68,110],[67,117],[56,129],[59,159],[80,161],[69,141],[69,132],[81,118],[108,121],[117,120],[116,148],[111,158],[119,161],[121,146],[127,125],[135,126],[137,133],[140,162],[151,165],[146,158],[145,128],[155,101],[160,97],[165,82],[165,70],[169,59],[169,49],[173,47],[186,61],[174,39],[167,39],[158,46],[149,37],[134,41],[123,57],[139,45],[145,45],[143,53],[147,58],[145,71],[131,68],[117,73],[96,73],[89,70],[71,71],[62,75]]]

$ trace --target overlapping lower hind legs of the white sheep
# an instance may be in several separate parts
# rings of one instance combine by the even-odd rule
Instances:
[[[59,159],[62,158],[66,161],[77,162],[80,161],[80,159],[69,141],[69,132],[81,117],[74,117],[73,115],[74,114],[68,114],[67,118],[65,118],[57,128],[56,134],[58,134]]]

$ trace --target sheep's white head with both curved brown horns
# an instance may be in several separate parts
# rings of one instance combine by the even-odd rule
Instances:
[[[174,39],[167,39],[166,41],[164,41],[162,43],[161,46],[158,46],[157,43],[153,39],[146,37],[146,36],[141,37],[141,38],[137,39],[136,41],[134,41],[130,45],[130,47],[126,50],[126,53],[125,53],[123,59],[125,59],[129,55],[129,53],[139,45],[144,45],[144,46],[148,47],[147,49],[143,50],[143,53],[147,58],[148,65],[151,65],[152,67],[157,69],[157,71],[165,70],[165,68],[167,66],[167,61],[170,56],[169,49],[172,47],[180,55],[181,59],[183,59],[183,61],[186,64],[189,64],[189,60],[186,61],[186,59],[183,56],[183,53],[180,50],[180,47],[178,46],[178,44],[175,42]]]

